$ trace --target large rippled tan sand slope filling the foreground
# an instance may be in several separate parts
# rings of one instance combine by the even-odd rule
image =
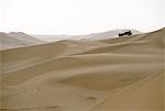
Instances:
[[[164,33],[1,51],[1,111],[164,111]]]

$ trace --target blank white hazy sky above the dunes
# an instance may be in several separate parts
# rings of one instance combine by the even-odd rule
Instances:
[[[86,34],[125,27],[146,32],[165,26],[163,4],[165,0],[0,0],[0,31]]]

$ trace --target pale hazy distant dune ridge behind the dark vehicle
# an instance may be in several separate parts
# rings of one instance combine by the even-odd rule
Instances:
[[[86,35],[32,35],[32,36],[35,36],[37,38],[41,38],[47,42],[56,42],[56,41],[63,41],[63,40],[99,41],[99,40],[105,40],[105,38],[118,37],[118,34],[124,31],[127,30],[118,29],[118,30],[111,30],[107,32],[92,33],[92,34],[86,34]],[[133,35],[142,33],[133,29],[130,29],[130,31],[132,32]]]

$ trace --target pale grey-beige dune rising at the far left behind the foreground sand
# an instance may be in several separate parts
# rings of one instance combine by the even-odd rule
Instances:
[[[0,32],[0,51],[15,47],[25,47],[44,43],[33,36],[22,32],[3,33]]]

